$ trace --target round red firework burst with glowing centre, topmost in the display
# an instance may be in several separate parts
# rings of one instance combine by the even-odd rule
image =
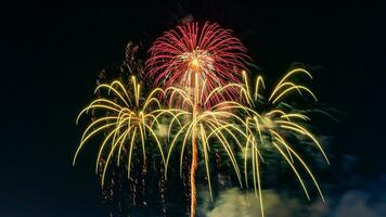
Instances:
[[[198,103],[205,108],[237,97],[236,90],[230,88],[204,103],[215,88],[242,82],[244,62],[249,59],[232,30],[216,23],[205,23],[202,27],[198,23],[177,26],[164,33],[149,52],[145,72],[154,86],[193,90],[198,85]]]

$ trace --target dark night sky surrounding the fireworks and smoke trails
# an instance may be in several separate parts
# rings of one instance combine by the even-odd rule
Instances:
[[[232,28],[268,79],[294,62],[313,68],[333,158],[324,183],[385,197],[385,5],[351,1],[26,1],[1,7],[0,216],[107,216],[93,155],[70,161],[98,73],[192,14]],[[254,3],[253,3],[254,2]],[[262,3],[265,2],[265,3]],[[312,3],[311,3],[312,2]],[[374,191],[376,189],[376,191]],[[386,209],[382,209],[386,210]]]

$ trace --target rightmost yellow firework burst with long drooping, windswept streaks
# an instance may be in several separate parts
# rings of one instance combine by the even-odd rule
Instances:
[[[260,150],[265,145],[270,145],[283,156],[285,162],[290,165],[292,170],[295,173],[297,179],[299,180],[301,188],[308,200],[310,200],[308,190],[300,173],[295,167],[295,162],[299,163],[304,169],[308,173],[309,177],[312,179],[316,188],[319,191],[321,199],[324,202],[323,193],[318,184],[316,177],[313,176],[309,166],[305,163],[300,154],[295,151],[293,145],[287,141],[288,136],[296,136],[301,138],[301,140],[309,140],[312,142],[322,153],[325,161],[330,164],[320,142],[310,132],[309,129],[303,124],[309,122],[310,118],[301,113],[293,113],[288,108],[283,108],[278,106],[278,104],[292,93],[309,94],[317,101],[313,92],[306,86],[298,85],[292,81],[292,78],[296,75],[307,76],[312,79],[311,74],[304,68],[294,68],[290,71],[284,77],[279,81],[273,91],[268,98],[268,103],[272,105],[272,110],[263,112],[262,105],[260,103],[259,90],[265,88],[265,82],[262,77],[257,77],[254,89],[250,88],[248,84],[247,76],[244,72],[244,86],[235,85],[241,90],[241,99],[244,104],[239,104],[235,108],[241,108],[244,111],[245,116],[245,133],[246,133],[246,144],[244,149],[244,174],[246,186],[248,186],[248,171],[252,167],[253,184],[255,189],[256,196],[260,201],[261,215],[263,216],[263,203],[261,195],[261,183],[260,183],[260,162],[263,163],[263,156]],[[262,106],[261,106],[262,105]],[[250,166],[252,164],[252,166]]]

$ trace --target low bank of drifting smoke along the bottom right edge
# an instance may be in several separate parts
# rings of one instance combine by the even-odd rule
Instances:
[[[308,202],[301,196],[291,196],[272,190],[263,190],[266,217],[383,217],[386,215],[386,195],[384,187],[350,190],[343,194],[326,192],[326,203],[314,199]],[[205,196],[205,192],[201,193]],[[210,202],[203,201],[200,207],[202,216],[206,217],[258,217],[259,201],[254,192],[246,193],[239,189],[222,191],[214,208]]]

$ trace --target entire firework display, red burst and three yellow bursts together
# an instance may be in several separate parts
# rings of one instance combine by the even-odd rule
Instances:
[[[179,174],[181,177],[183,173],[189,174],[190,216],[193,217],[197,206],[197,171],[204,171],[209,197],[214,200],[210,164],[215,161],[210,156],[214,150],[221,150],[224,153],[221,157],[230,162],[240,187],[253,186],[265,216],[260,168],[266,156],[261,150],[269,146],[294,171],[307,199],[310,195],[298,166],[306,170],[324,202],[310,166],[297,151],[298,145],[293,144],[311,145],[327,164],[329,158],[318,137],[306,125],[310,117],[283,106],[294,93],[317,101],[308,87],[294,81],[300,76],[312,79],[307,69],[291,69],[265,98],[260,93],[266,88],[262,77],[257,76],[256,82],[249,84],[246,65],[250,58],[246,48],[232,30],[216,23],[189,23],[165,31],[149,49],[149,54],[143,71],[130,72],[139,77],[97,87],[100,95],[77,117],[78,123],[81,116],[92,112],[95,118],[81,136],[74,165],[86,143],[102,137],[95,164],[102,187],[108,165],[119,165],[125,159],[130,178],[132,169],[142,168],[133,167],[133,158],[142,156],[145,164],[150,149],[159,153],[166,179],[172,167],[171,158],[179,152]],[[139,81],[141,76],[143,84],[152,85],[152,90],[143,91],[151,88]],[[142,95],[144,92],[149,94]]]

